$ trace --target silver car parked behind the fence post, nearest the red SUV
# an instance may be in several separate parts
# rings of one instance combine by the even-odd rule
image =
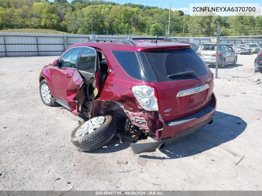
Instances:
[[[237,64],[238,56],[234,49],[228,44],[220,44],[218,53],[218,66],[224,68],[226,65]],[[216,65],[216,43],[204,43],[199,46],[197,53],[203,59],[203,61],[210,66]]]

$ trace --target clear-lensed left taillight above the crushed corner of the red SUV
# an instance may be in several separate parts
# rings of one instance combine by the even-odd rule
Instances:
[[[154,87],[147,85],[133,86],[132,92],[145,110],[158,111],[158,97]]]

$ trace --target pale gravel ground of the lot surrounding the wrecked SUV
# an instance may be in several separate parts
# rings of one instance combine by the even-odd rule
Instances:
[[[238,67],[219,69],[211,125],[140,155],[118,140],[88,153],[73,147],[69,134],[78,117],[47,107],[39,96],[38,75],[54,59],[0,59],[0,190],[262,190],[262,84],[256,81],[262,74],[254,73],[255,55],[238,55]],[[241,157],[215,146],[221,143],[244,159],[235,165]]]

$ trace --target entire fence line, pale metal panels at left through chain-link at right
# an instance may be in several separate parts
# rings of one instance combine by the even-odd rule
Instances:
[[[262,73],[262,35],[220,37],[219,34],[218,25],[216,37],[171,38],[191,44],[216,78],[246,77],[254,72]],[[131,37],[132,35],[0,33],[0,57],[60,55],[73,44],[88,42],[92,38]]]

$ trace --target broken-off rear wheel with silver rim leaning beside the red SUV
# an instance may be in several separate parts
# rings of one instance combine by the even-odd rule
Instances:
[[[70,140],[81,151],[90,151],[109,142],[117,131],[117,125],[112,116],[97,116],[87,120],[75,128]]]

